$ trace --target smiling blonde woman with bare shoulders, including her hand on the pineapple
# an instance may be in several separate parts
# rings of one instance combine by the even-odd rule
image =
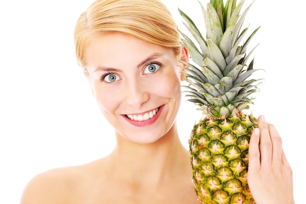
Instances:
[[[21,204],[200,204],[179,140],[180,69],[188,60],[159,0],[98,0],[75,27],[78,64],[114,127],[105,158],[32,179]],[[257,204],[293,204],[292,173],[274,126],[259,117],[248,182]]]

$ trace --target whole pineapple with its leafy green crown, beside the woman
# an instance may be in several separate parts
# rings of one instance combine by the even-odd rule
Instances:
[[[182,31],[182,43],[195,64],[186,65],[186,96],[203,112],[190,139],[193,181],[202,204],[255,204],[248,188],[248,144],[257,127],[257,118],[245,114],[253,104],[250,97],[259,91],[262,79],[250,79],[260,69],[253,69],[251,58],[256,46],[246,46],[260,27],[242,45],[248,28],[241,29],[250,4],[240,15],[244,0],[210,0],[202,8],[206,39],[193,21],[180,9],[184,25],[197,43]],[[249,64],[247,65],[247,63]],[[252,75],[253,76],[253,75]]]

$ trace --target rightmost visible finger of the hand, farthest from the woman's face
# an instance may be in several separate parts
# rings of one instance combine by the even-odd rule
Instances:
[[[272,165],[276,165],[277,167],[281,167],[282,165],[282,138],[277,132],[276,128],[272,124],[268,124],[269,133],[272,141],[272,148],[273,148],[273,156],[272,156]]]

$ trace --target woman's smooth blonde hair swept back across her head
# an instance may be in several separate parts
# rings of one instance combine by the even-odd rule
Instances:
[[[79,17],[74,30],[77,63],[87,66],[85,50],[95,35],[119,31],[181,52],[177,25],[160,0],[96,0]]]

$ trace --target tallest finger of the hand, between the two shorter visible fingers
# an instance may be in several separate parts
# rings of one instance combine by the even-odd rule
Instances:
[[[263,115],[258,118],[258,127],[260,131],[259,149],[261,154],[261,165],[270,167],[272,165],[272,141],[270,138],[268,124]]]

